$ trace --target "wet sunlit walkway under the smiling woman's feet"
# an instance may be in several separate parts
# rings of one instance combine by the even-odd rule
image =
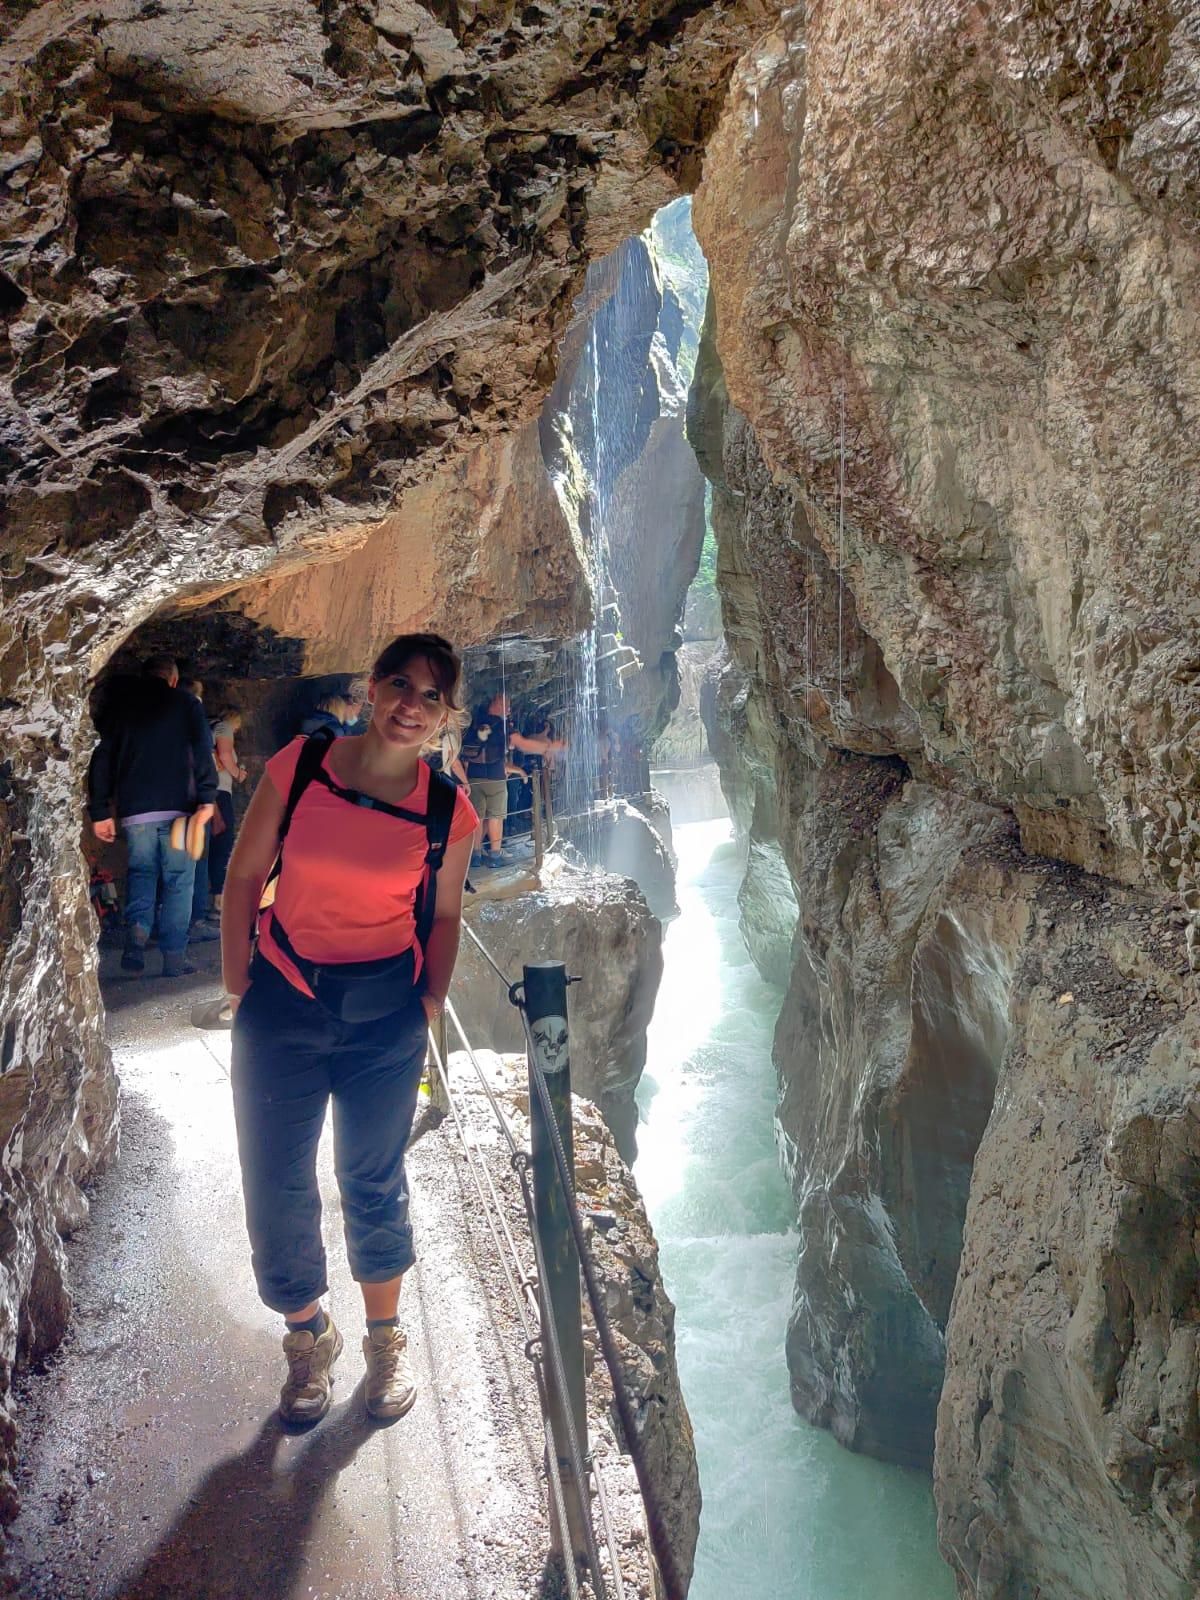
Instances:
[[[322,1144],[331,1306],[346,1334],[328,1418],[274,1414],[280,1326],[254,1294],[229,1035],[142,979],[110,1013],[122,1157],[70,1246],[74,1333],[21,1395],[24,1600],[530,1600],[557,1592],[541,1424],[491,1240],[450,1125],[413,1147],[419,1264],[402,1317],[419,1397],[371,1424],[362,1302]],[[114,997],[117,998],[117,997]]]

